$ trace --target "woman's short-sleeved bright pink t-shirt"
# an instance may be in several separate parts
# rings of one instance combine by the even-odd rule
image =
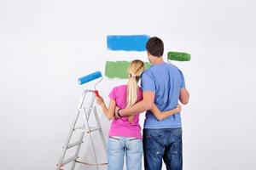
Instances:
[[[108,96],[110,97],[110,99],[115,100],[116,105],[120,109],[125,109],[127,85],[122,85],[122,86],[113,88],[113,90]],[[142,99],[143,99],[143,92],[141,88],[138,88],[137,101],[140,101]],[[113,118],[108,135],[122,136],[122,137],[135,137],[137,139],[142,139],[141,127],[139,125],[139,113],[134,115],[132,124],[131,122],[128,121],[128,116]]]

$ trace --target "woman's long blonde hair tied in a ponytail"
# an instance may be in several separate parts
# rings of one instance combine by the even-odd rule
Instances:
[[[144,69],[144,63],[139,59],[131,61],[131,64],[128,66],[126,107],[131,107],[131,105],[134,105],[137,102],[137,82],[139,81]]]

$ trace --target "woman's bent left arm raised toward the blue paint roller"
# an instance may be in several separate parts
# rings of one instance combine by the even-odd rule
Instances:
[[[98,105],[101,106],[104,115],[110,121],[113,118],[114,108],[115,108],[115,105],[116,105],[115,100],[110,99],[110,103],[109,103],[108,107],[105,105],[104,99],[102,97],[100,97],[100,98],[96,97],[96,102],[97,102]]]

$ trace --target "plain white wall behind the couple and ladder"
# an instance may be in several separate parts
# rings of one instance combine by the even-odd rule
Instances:
[[[192,54],[191,61],[174,63],[191,94],[182,113],[183,169],[256,169],[253,6],[231,0],[0,0],[1,169],[54,169],[80,94],[92,85],[80,87],[77,78],[103,72],[106,60],[147,59],[108,51],[110,34],[158,36],[166,52]],[[107,99],[124,82],[105,78],[98,88]],[[107,135],[108,121],[100,116]]]

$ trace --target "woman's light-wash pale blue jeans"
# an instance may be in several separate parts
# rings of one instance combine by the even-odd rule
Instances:
[[[108,170],[122,170],[126,157],[127,170],[141,170],[143,140],[113,136],[108,138]]]

